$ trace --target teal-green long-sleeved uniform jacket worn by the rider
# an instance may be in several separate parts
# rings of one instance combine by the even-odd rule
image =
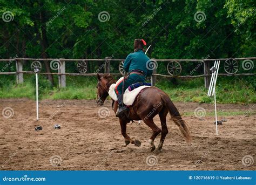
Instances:
[[[142,50],[130,53],[124,61],[124,70],[130,72],[132,70],[143,71],[146,77],[152,75],[152,70],[147,69],[147,64],[149,64],[150,58]]]

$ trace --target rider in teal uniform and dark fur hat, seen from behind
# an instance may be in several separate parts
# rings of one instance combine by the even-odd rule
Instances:
[[[146,42],[143,39],[134,40],[134,52],[130,53],[124,61],[124,70],[128,73],[128,76],[124,78],[124,90],[130,85],[138,82],[145,82],[146,77],[152,75],[152,70],[149,70],[147,65],[150,58],[144,53],[143,47]],[[118,110],[117,117],[122,118],[124,113],[128,111],[126,105],[123,104],[123,81],[120,81],[115,88],[115,92],[118,98]]]

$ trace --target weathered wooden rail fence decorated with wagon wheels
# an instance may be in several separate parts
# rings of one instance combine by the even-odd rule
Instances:
[[[151,77],[151,83],[154,85],[156,83],[156,78],[157,77],[167,77],[167,78],[200,78],[204,77],[205,79],[205,87],[208,88],[209,82],[210,82],[210,77],[211,77],[211,72],[210,72],[210,61],[215,61],[215,60],[220,60],[222,63],[225,65],[225,71],[227,73],[220,73],[218,74],[219,76],[255,76],[256,73],[239,73],[237,74],[236,72],[238,71],[238,61],[239,60],[244,60],[244,61],[249,61],[252,64],[252,67],[254,66],[254,63],[252,60],[255,60],[256,57],[249,57],[249,58],[220,58],[220,59],[152,59],[152,61],[158,63],[158,62],[169,62],[167,64],[167,71],[169,72],[168,75],[166,74],[157,74],[156,68],[153,68],[153,75]],[[17,84],[23,83],[23,74],[33,74],[33,71],[23,71],[23,61],[24,60],[30,60],[30,61],[57,61],[60,65],[58,67],[58,72],[53,72],[53,73],[48,73],[48,72],[42,72],[40,74],[52,74],[52,75],[58,75],[59,78],[59,87],[65,87],[66,86],[66,76],[96,76],[97,73],[66,73],[65,72],[65,63],[66,62],[75,62],[78,61],[79,63],[87,63],[90,61],[105,61],[104,63],[104,72],[105,73],[110,73],[110,63],[111,62],[119,62],[119,71],[122,68],[122,61],[124,59],[112,59],[111,57],[106,57],[105,59],[53,59],[53,58],[48,58],[48,59],[38,59],[38,58],[13,58],[13,59],[0,59],[0,62],[9,62],[12,63],[12,61],[16,62],[16,72],[3,72],[0,69],[0,74],[16,74],[17,76]],[[107,62],[106,62],[107,61]],[[197,62],[199,63],[199,67],[201,65],[204,65],[204,74],[200,74],[197,76],[180,76],[181,72],[181,65],[183,61],[191,61],[191,62]],[[243,64],[244,64],[243,61]],[[9,64],[10,65],[10,64]],[[226,70],[226,65],[227,69],[230,70],[230,68],[233,71],[227,71]],[[8,67],[8,64],[5,66]],[[121,66],[121,68],[120,68]],[[5,67],[6,68],[6,67]],[[174,70],[180,70],[179,73],[174,73]],[[194,70],[194,69],[193,69]],[[192,70],[192,71],[193,71]],[[1,72],[2,71],[2,72]],[[84,72],[84,71],[83,71]],[[173,74],[171,73],[173,72]],[[122,71],[120,73],[111,73],[113,76],[120,76]]]

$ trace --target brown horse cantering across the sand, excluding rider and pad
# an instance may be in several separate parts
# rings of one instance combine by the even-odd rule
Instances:
[[[105,99],[109,95],[109,87],[111,84],[116,83],[110,74],[97,74],[97,104],[103,105]],[[113,100],[112,108],[116,113],[118,103]],[[138,140],[132,140],[126,133],[126,125],[131,120],[143,120],[147,126],[149,126],[153,134],[149,140],[151,151],[156,149],[154,145],[154,139],[159,133],[161,133],[161,139],[157,147],[157,151],[160,151],[164,144],[164,139],[168,133],[166,125],[166,116],[170,112],[171,119],[179,127],[181,133],[184,135],[187,142],[191,141],[190,131],[186,122],[181,118],[178,109],[174,106],[173,102],[165,92],[161,91],[157,87],[144,88],[134,100],[133,105],[129,107],[129,114],[127,117],[119,118],[120,126],[122,129],[122,135],[125,139],[125,144],[132,143],[136,146],[140,146],[141,143]],[[159,115],[161,121],[161,129],[154,124],[153,118]]]

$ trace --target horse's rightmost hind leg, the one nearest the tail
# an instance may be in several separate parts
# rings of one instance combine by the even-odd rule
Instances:
[[[163,148],[165,136],[168,133],[168,128],[167,128],[167,125],[166,125],[166,116],[167,116],[167,114],[168,114],[168,109],[166,109],[166,108],[163,108],[161,110],[161,112],[159,112],[159,118],[160,118],[160,121],[161,121],[162,129],[161,129],[161,139],[160,139],[159,145],[157,147],[157,152],[160,152],[161,148]]]

